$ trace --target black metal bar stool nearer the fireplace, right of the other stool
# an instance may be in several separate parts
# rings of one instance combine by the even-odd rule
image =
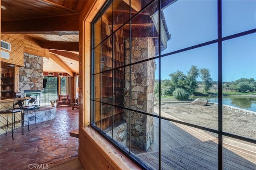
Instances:
[[[26,100],[24,99],[24,101],[26,101]],[[25,114],[25,111],[27,111],[27,115],[28,115],[28,111],[34,110],[35,124],[36,124],[36,107],[35,107],[35,105],[36,105],[36,99],[33,98],[33,97],[30,98],[30,96],[28,98],[28,103],[24,102],[24,105],[21,108],[21,110],[23,111],[23,113],[22,113],[22,128],[24,127],[24,114]],[[30,131],[29,130],[29,117],[28,117],[28,121],[27,122],[28,122],[28,131]],[[23,130],[22,130],[22,134],[23,134]]]

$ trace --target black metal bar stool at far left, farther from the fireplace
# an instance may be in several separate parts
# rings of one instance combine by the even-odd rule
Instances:
[[[23,102],[24,102],[24,99],[16,98],[16,96],[14,96],[13,103],[12,103],[12,106],[10,107],[10,109],[5,109],[5,110],[0,111],[1,114],[7,114],[6,134],[8,132],[7,131],[8,127],[10,128],[10,125],[8,125],[8,117],[9,117],[9,114],[12,114],[12,139],[14,139],[13,131],[15,128],[15,114],[17,114],[19,112],[22,113]],[[14,120],[13,120],[13,116],[14,116]],[[13,123],[14,123],[14,125],[13,125]],[[22,132],[22,134],[23,134],[23,132]]]

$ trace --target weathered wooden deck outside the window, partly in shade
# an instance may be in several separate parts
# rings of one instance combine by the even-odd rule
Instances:
[[[166,113],[161,114],[170,117]],[[132,152],[152,169],[158,169],[158,119],[154,121],[154,141],[148,151]],[[161,126],[164,127],[161,130],[163,170],[218,169],[218,138],[203,130],[166,120],[162,120]],[[223,151],[223,169],[256,170],[256,144],[224,137]]]

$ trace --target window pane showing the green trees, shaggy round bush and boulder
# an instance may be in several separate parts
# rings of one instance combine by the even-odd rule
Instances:
[[[217,61],[217,44],[162,57],[162,116],[218,129]]]

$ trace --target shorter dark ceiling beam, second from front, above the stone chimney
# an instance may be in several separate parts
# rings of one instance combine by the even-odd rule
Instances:
[[[42,48],[64,51],[79,51],[78,43],[76,42],[42,42]]]

